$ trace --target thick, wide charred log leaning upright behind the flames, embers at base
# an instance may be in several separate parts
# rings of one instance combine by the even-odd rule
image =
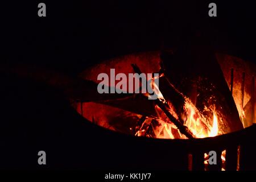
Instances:
[[[210,121],[216,113],[220,133],[243,129],[232,93],[210,48],[197,43],[174,54],[163,52],[161,59],[164,75],[179,92],[191,98],[195,95],[191,88],[197,85],[196,108]]]

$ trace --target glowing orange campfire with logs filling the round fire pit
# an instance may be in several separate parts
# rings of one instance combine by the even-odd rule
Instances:
[[[188,59],[190,61],[183,61]],[[157,99],[148,100],[148,93],[114,93],[104,94],[98,100],[79,100],[73,106],[97,125],[137,137],[216,137],[253,123],[254,77],[250,75],[253,84],[249,84],[245,73],[254,73],[255,67],[247,66],[241,71],[241,64],[247,63],[229,55],[199,53],[197,49],[122,56],[86,69],[81,77],[97,85],[97,75],[108,74],[112,68],[126,75],[158,73],[158,77],[151,78],[159,81],[159,86],[152,85]],[[106,86],[111,88],[115,84],[117,82]],[[205,154],[206,169],[208,158]],[[225,163],[225,151],[221,159]]]

